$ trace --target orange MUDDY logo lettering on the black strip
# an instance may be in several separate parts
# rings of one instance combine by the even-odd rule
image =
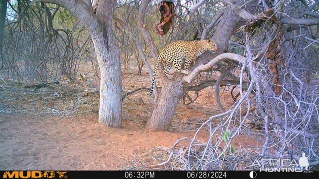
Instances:
[[[4,172],[3,179],[67,179],[66,173],[60,171],[11,171]]]

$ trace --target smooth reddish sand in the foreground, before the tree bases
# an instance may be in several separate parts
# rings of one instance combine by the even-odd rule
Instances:
[[[194,135],[194,132],[146,132],[130,129],[126,124],[124,129],[113,129],[97,124],[97,116],[0,117],[0,170],[127,169],[130,161],[141,160],[160,146],[170,147],[177,139]],[[203,138],[207,139],[207,134],[199,135],[199,139]],[[258,142],[240,136],[235,146],[240,144],[245,147]],[[147,159],[145,163],[156,164],[150,157]]]

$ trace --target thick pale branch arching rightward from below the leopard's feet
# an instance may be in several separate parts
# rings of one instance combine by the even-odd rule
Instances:
[[[238,55],[235,53],[222,53],[216,56],[214,59],[210,60],[207,64],[201,64],[197,66],[189,75],[183,77],[183,83],[190,84],[200,72],[210,69],[220,60],[224,60],[224,59],[235,60],[235,61],[238,61],[239,63],[245,63],[246,61],[246,58],[241,55]]]

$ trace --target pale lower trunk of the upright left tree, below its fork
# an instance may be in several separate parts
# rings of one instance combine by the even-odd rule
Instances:
[[[110,31],[99,32],[96,36],[92,36],[101,73],[99,124],[121,128],[121,63],[119,49],[113,44],[112,32]],[[108,43],[106,43],[107,41]]]

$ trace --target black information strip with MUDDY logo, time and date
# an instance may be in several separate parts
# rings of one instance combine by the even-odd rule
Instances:
[[[318,178],[318,171],[0,171],[0,179],[269,179]]]

